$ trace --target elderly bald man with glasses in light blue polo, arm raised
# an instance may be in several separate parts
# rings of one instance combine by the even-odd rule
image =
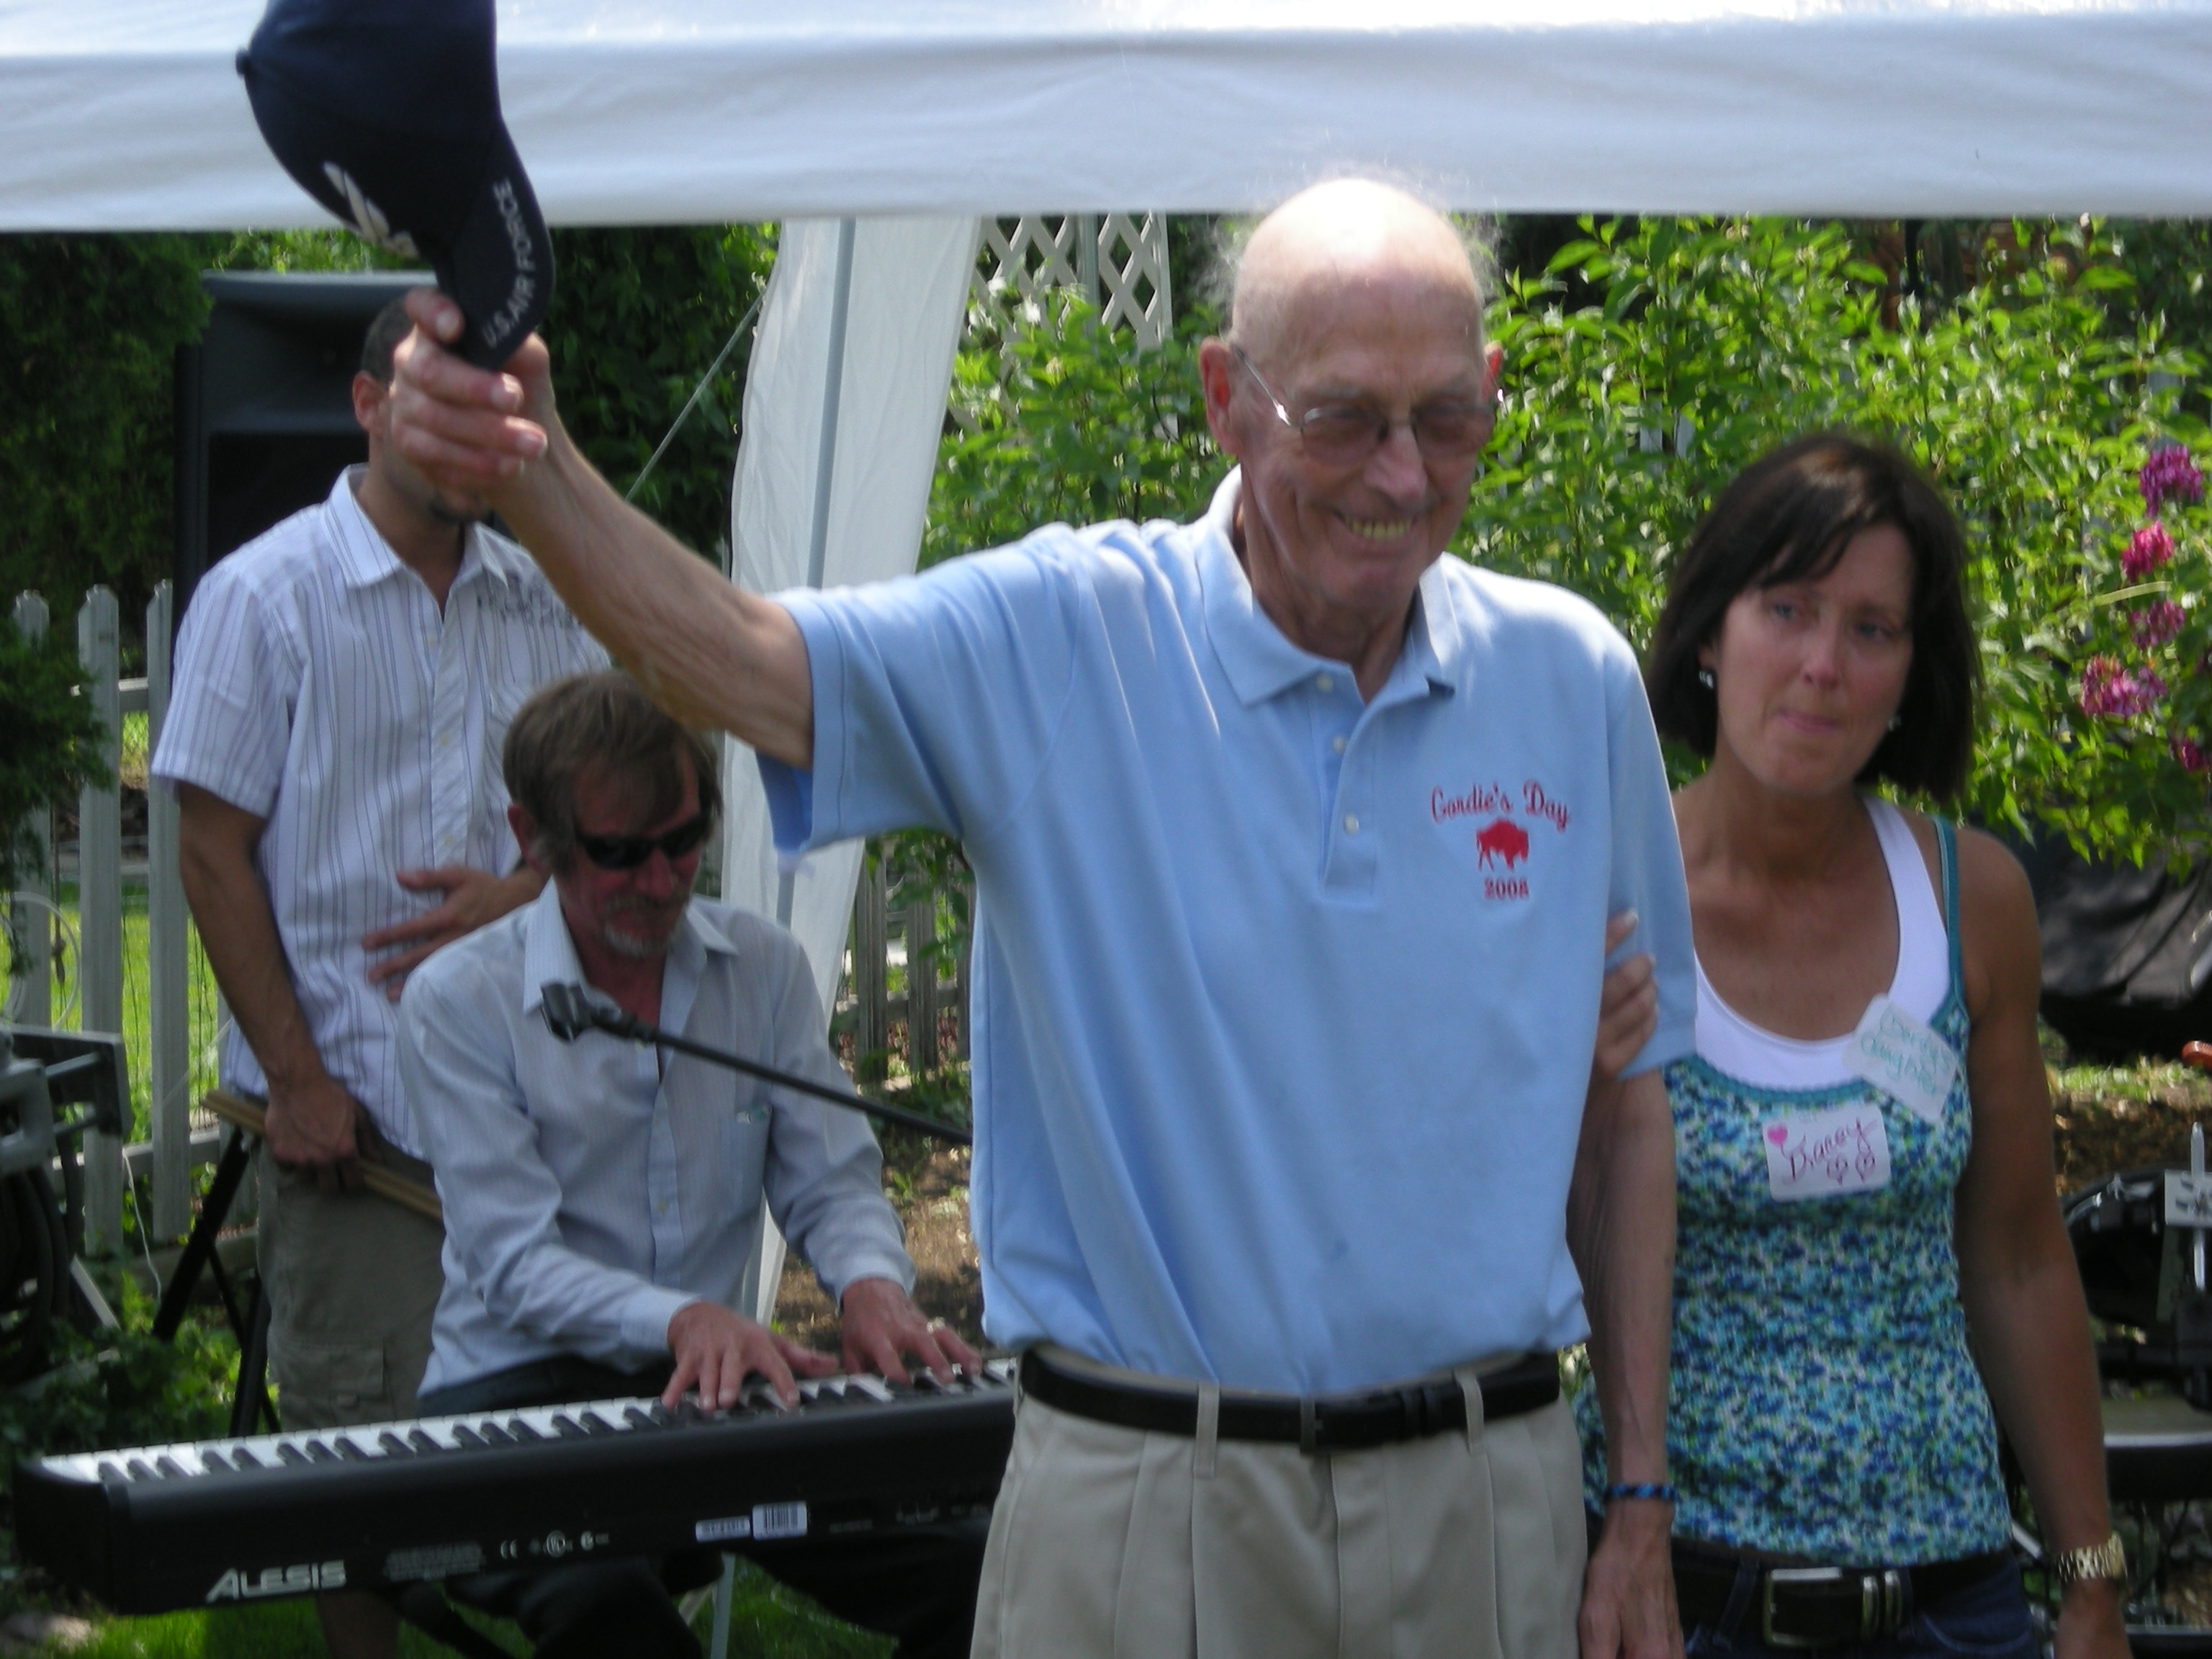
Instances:
[[[975,1652],[1557,1659],[1577,1608],[1588,1659],[1679,1652],[1681,860],[1619,635],[1438,557],[1500,372],[1451,226],[1363,181],[1259,226],[1194,522],[774,599],[593,476],[542,345],[480,374],[414,305],[407,456],[759,750],[779,845],[967,845],[984,1329],[1024,1352]],[[1657,1031],[1593,1088],[1624,909]],[[1553,1360],[1584,1334],[1641,1489],[1588,1571]]]

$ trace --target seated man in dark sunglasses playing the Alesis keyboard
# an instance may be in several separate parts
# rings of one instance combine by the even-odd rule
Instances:
[[[949,1380],[975,1354],[909,1298],[914,1263],[858,1113],[615,1040],[564,1044],[540,987],[584,982],[650,1024],[843,1084],[799,945],[692,900],[719,807],[714,748],[622,672],[580,675],[515,714],[509,823],[551,880],[535,905],[416,969],[400,1071],[445,1203],[445,1294],[425,1413],[697,1391],[750,1374],[785,1400],[838,1369],[745,1318],[761,1206],[843,1316],[843,1367]],[[900,1655],[964,1655],[982,1524],[745,1551]],[[697,1564],[478,1575],[462,1599],[538,1655],[697,1655],[666,1582]]]

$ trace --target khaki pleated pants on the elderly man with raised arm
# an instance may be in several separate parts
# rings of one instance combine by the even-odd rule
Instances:
[[[1186,1438],[1022,1400],[973,1659],[1575,1659],[1564,1402],[1321,1455],[1203,1425],[1203,1405]]]

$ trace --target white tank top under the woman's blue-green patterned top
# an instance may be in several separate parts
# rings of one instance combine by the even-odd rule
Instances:
[[[1889,894],[1898,909],[1898,971],[1889,1000],[1922,1020],[1936,1020],[1951,991],[1951,942],[1942,931],[1942,902],[1929,880],[1920,843],[1905,814],[1887,801],[1865,796],[1874,834],[1889,863]],[[1854,1022],[1856,1024],[1856,1022]],[[1851,1082],[1843,1046],[1851,1033],[1807,1042],[1754,1026],[1721,1002],[1721,993],[1697,964],[1697,1053],[1717,1071],[1759,1088],[1829,1088]]]

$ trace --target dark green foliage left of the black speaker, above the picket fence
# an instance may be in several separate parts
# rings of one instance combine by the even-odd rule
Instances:
[[[58,617],[95,582],[142,615],[168,575],[173,358],[204,237],[0,237],[0,597]]]

